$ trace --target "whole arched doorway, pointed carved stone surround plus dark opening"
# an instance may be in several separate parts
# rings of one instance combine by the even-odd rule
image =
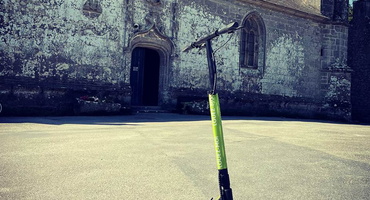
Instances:
[[[167,36],[160,33],[154,24],[147,30],[135,33],[127,49],[130,51],[129,55],[131,56],[131,68],[127,68],[127,70],[130,70],[127,71],[127,73],[130,73],[132,106],[141,107],[154,105],[161,107],[168,103],[169,70],[173,49],[174,45],[172,41]],[[143,60],[149,61],[143,63]],[[149,68],[149,70],[153,70],[151,72],[151,77],[153,79],[158,78],[158,80],[151,81],[150,79],[146,79],[148,75],[146,78],[144,77],[145,72],[140,71],[139,66],[149,66],[153,63],[159,65]],[[145,67],[143,69],[145,69]],[[137,73],[133,72],[135,70],[138,70]],[[139,73],[139,71],[141,73]],[[159,75],[154,75],[157,73]],[[136,80],[134,77],[136,77]],[[149,86],[144,87],[144,80],[146,80],[148,84],[154,82],[154,84],[150,84],[153,88],[150,89],[148,88]],[[157,84],[156,81],[158,81],[159,84]]]

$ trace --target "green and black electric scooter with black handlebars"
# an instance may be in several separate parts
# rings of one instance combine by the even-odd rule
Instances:
[[[229,178],[229,173],[227,170],[225,143],[224,143],[224,136],[223,136],[223,131],[222,131],[220,103],[219,103],[218,94],[216,93],[216,83],[217,83],[216,62],[214,58],[214,52],[212,49],[211,40],[225,33],[234,33],[238,29],[239,29],[239,24],[237,22],[231,23],[222,29],[216,30],[212,34],[207,35],[199,39],[196,42],[193,42],[190,46],[188,46],[187,48],[183,50],[183,52],[187,52],[193,48],[202,48],[205,46],[206,52],[207,52],[209,82],[212,87],[211,91],[208,94],[208,98],[209,98],[212,130],[213,130],[213,137],[214,137],[215,150],[216,150],[218,180],[219,180],[219,189],[220,189],[220,197],[218,198],[218,200],[232,200],[233,194],[232,194],[232,189],[230,188],[230,178]]]

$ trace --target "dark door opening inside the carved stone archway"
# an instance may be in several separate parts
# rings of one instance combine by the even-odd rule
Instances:
[[[132,51],[130,84],[133,106],[157,106],[160,56],[157,51],[137,47]]]

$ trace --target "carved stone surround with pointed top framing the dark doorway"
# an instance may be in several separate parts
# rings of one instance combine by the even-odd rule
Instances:
[[[169,68],[174,45],[153,24],[148,30],[136,33],[130,40],[130,58],[134,49],[138,47],[152,49],[159,54],[158,105],[161,106],[166,101],[165,96],[168,91]],[[132,67],[131,64],[130,67]]]

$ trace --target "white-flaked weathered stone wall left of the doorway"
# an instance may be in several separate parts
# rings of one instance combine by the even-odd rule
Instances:
[[[116,1],[1,1],[4,112],[31,106],[64,113],[61,102],[70,107],[72,97],[108,98],[112,90],[124,102],[124,11]]]

